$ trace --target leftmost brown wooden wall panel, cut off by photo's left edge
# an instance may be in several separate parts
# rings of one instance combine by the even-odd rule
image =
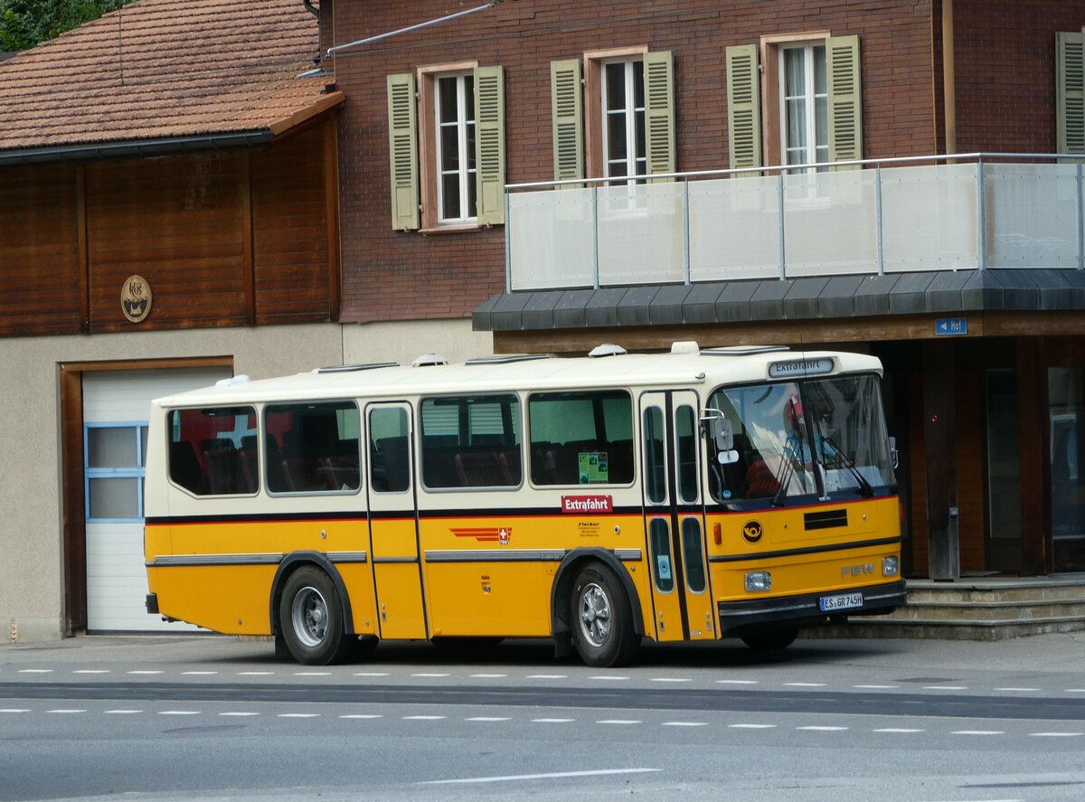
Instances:
[[[79,331],[76,176],[73,165],[0,169],[0,336]]]

